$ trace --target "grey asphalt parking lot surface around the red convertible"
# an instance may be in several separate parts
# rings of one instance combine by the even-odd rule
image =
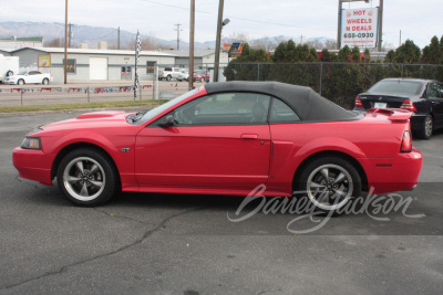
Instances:
[[[234,222],[241,197],[123,193],[78,208],[18,178],[23,136],[76,115],[0,116],[0,294],[443,292],[443,133],[414,140],[424,166],[419,187],[399,192],[405,210]]]

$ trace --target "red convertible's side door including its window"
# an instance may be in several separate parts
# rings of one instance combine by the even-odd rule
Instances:
[[[266,122],[269,96],[253,96],[200,97],[173,112],[174,126],[153,123],[144,128],[135,151],[140,185],[251,190],[266,183],[271,150]],[[257,116],[254,107],[260,108]],[[266,112],[265,117],[259,117],[260,112]]]

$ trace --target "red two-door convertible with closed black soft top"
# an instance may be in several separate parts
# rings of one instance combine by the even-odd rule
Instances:
[[[303,191],[324,211],[362,190],[412,189],[422,167],[410,112],[346,110],[311,88],[209,83],[145,113],[97,112],[41,126],[13,151],[22,178],[76,204],[117,191],[264,196]]]

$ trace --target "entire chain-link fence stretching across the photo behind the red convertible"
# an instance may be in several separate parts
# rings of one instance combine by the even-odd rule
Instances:
[[[214,64],[195,64],[189,75],[187,64],[157,64],[152,80],[141,82],[136,99],[171,99],[189,91],[188,80],[194,87],[212,81]],[[169,67],[169,69],[167,69]],[[168,78],[162,76],[167,69],[178,69]],[[229,63],[220,64],[220,81],[278,81],[293,85],[309,86],[323,97],[352,108],[359,93],[367,91],[385,77],[414,77],[443,81],[443,65],[429,64],[383,64],[383,63]],[[157,80],[155,78],[157,77]],[[66,104],[134,99],[131,82],[103,81],[101,85],[69,85],[49,87],[2,86],[0,106],[30,104]],[[95,83],[97,84],[97,83]],[[133,85],[133,84],[132,84]]]

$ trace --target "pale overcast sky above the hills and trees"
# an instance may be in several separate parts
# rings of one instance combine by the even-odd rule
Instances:
[[[343,3],[344,9],[378,7],[380,0]],[[431,38],[443,35],[442,0],[384,0],[383,45],[396,48],[406,39],[420,48]],[[218,0],[195,0],[195,41],[214,41]],[[69,22],[79,25],[121,27],[121,30],[176,40],[189,40],[190,0],[69,0]],[[64,23],[63,0],[0,0],[1,22]],[[327,36],[337,39],[338,0],[225,0],[224,19],[230,23],[223,36],[245,34],[249,39],[292,36],[303,40]]]

